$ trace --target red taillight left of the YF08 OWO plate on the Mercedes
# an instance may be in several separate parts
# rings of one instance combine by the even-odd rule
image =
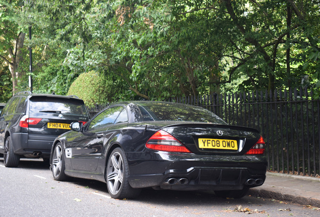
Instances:
[[[179,140],[163,130],[153,134],[145,147],[157,151],[191,153]]]

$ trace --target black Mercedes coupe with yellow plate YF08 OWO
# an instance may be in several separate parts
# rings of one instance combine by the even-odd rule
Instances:
[[[259,132],[228,125],[198,106],[119,102],[70,128],[52,146],[54,179],[106,182],[113,198],[135,198],[147,187],[240,198],[266,178]]]

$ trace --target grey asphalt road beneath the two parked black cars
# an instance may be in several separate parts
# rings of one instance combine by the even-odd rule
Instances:
[[[320,216],[315,207],[250,195],[222,199],[212,192],[144,189],[135,200],[117,200],[105,183],[58,182],[42,161],[21,160],[18,168],[6,168],[3,158],[0,195],[0,216]]]

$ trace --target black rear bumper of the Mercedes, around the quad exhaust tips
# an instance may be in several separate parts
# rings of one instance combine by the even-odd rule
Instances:
[[[129,162],[129,183],[133,188],[239,190],[260,186],[266,179],[265,157],[168,153],[157,157],[162,160]]]

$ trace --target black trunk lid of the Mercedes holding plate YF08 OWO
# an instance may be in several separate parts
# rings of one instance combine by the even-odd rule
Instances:
[[[247,127],[183,123],[163,127],[195,154],[243,155],[260,139]]]

